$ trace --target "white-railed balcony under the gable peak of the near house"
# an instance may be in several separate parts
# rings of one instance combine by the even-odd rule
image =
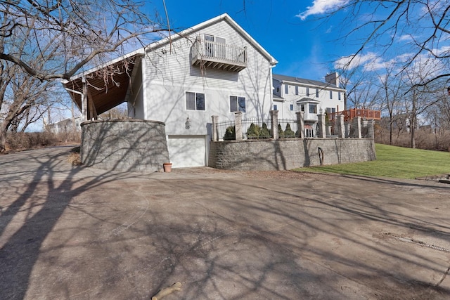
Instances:
[[[247,67],[247,48],[198,38],[191,48],[191,64],[195,67],[240,72]]]

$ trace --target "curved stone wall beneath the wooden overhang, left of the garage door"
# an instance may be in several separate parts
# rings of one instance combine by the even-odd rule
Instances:
[[[141,119],[82,123],[82,164],[117,171],[162,171],[169,162],[165,124]]]

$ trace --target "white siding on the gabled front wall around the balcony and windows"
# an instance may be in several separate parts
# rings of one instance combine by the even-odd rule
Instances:
[[[191,46],[203,34],[224,38],[227,44],[246,46],[248,67],[240,72],[193,67]],[[152,49],[145,60],[146,119],[165,122],[167,135],[210,135],[212,115],[224,121],[233,119],[229,96],[245,97],[244,117],[269,117],[272,89],[269,60],[226,20]],[[205,111],[186,110],[186,91],[205,94]],[[187,117],[190,129],[185,128]]]

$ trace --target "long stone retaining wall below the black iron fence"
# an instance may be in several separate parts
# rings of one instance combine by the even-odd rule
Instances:
[[[240,171],[288,170],[319,166],[321,161],[342,164],[374,159],[373,138],[212,141],[209,167]]]

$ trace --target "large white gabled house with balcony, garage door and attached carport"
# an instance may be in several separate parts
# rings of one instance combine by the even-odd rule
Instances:
[[[269,117],[276,63],[224,14],[79,74],[64,86],[86,119],[127,102],[129,117],[165,122],[174,167],[197,167],[207,165],[212,115],[221,121],[233,120],[234,112]],[[96,71],[105,67],[119,70],[113,80],[119,84],[104,88]]]

